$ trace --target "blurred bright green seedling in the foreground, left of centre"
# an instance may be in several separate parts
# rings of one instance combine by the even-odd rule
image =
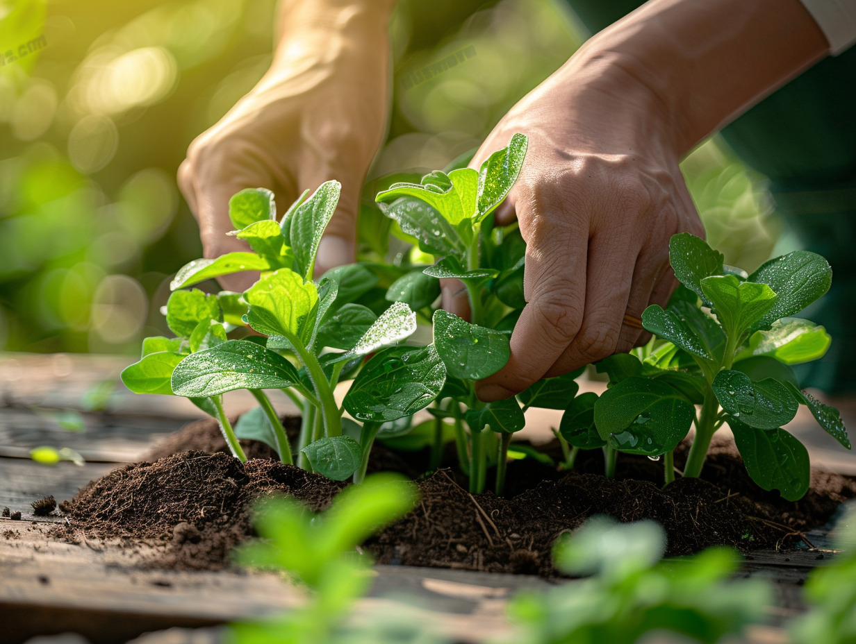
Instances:
[[[372,583],[372,559],[357,547],[387,523],[402,517],[416,504],[410,482],[389,475],[366,478],[336,496],[329,510],[313,514],[294,499],[271,498],[260,502],[255,526],[263,541],[241,546],[239,564],[285,572],[307,590],[306,603],[272,619],[235,623],[230,639],[236,644],[272,641],[315,642],[420,641],[413,625],[347,622],[354,603]]]

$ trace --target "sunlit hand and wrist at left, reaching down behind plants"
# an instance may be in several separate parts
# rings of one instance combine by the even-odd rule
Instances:
[[[247,250],[226,234],[232,229],[229,198],[235,192],[269,188],[283,212],[304,190],[336,179],[342,197],[318,249],[316,273],[354,261],[360,191],[386,127],[387,4],[283,3],[282,34],[270,69],[193,140],[178,171],[205,257]],[[253,277],[229,275],[220,281],[240,291]]]

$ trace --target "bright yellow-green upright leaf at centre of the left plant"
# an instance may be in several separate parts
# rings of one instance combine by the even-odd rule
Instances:
[[[244,299],[250,307],[247,323],[259,333],[309,341],[318,306],[318,288],[311,281],[279,269],[257,281]]]

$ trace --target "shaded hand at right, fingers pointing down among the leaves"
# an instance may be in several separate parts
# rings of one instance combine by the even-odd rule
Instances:
[[[704,235],[657,103],[594,67],[572,59],[515,105],[473,158],[478,168],[513,133],[529,138],[520,177],[496,211],[499,223],[516,215],[526,239],[528,304],[508,363],[479,382],[480,399],[508,398],[645,340],[624,316],[668,301],[669,238]]]

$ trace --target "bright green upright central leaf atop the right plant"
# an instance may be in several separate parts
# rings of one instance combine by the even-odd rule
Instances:
[[[776,292],[766,284],[740,281],[734,275],[714,275],[701,281],[704,297],[713,304],[716,319],[728,339],[740,346],[746,335],[764,325],[776,304]]]

